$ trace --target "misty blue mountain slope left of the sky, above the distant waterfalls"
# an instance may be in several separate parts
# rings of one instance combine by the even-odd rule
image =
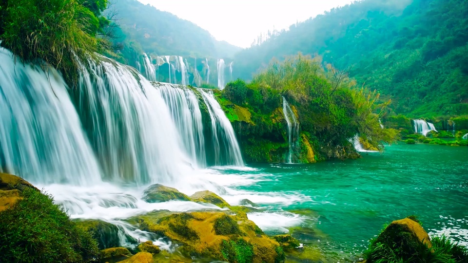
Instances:
[[[217,41],[194,23],[137,0],[114,0],[109,12],[120,26],[117,42],[139,45],[146,53],[193,57],[233,57],[241,48]]]

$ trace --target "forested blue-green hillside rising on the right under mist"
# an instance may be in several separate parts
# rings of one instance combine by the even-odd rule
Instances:
[[[392,98],[396,113],[468,113],[468,2],[364,0],[292,25],[238,53],[237,77],[251,79],[275,57],[323,57]],[[329,67],[330,68],[330,67]]]

